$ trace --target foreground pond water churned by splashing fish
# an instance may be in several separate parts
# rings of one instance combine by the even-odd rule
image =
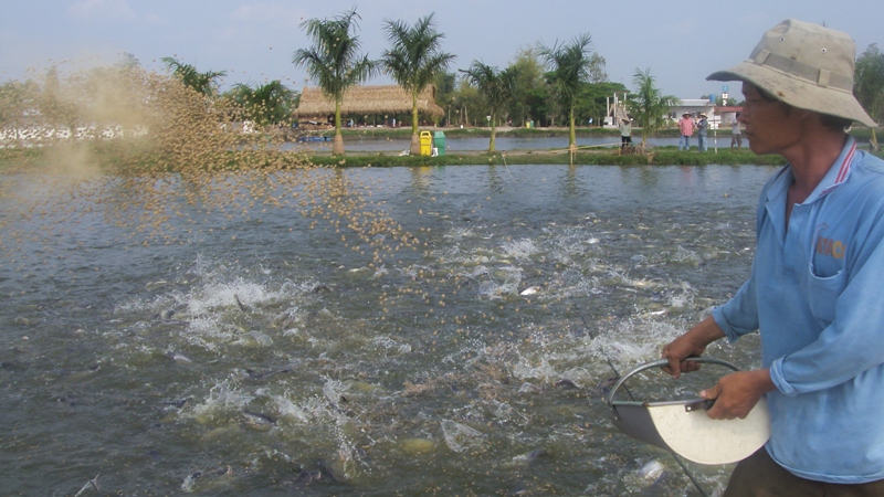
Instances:
[[[133,496],[701,495],[613,427],[603,395],[612,369],[656,359],[748,276],[772,171],[459,166],[238,187],[347,182],[336,201],[359,192],[351,209],[406,243],[352,236],[328,210],[210,209],[175,175],[157,186],[171,215],[134,230],[119,220],[137,202],[2,176],[40,198],[0,198],[4,494],[97,495],[98,475],[102,495]],[[137,193],[113,177],[80,189]],[[751,368],[757,347],[709,353]],[[630,389],[685,394],[717,373]],[[686,467],[708,494],[732,469]]]

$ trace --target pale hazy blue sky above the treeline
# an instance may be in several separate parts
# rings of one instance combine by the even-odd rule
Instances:
[[[113,64],[128,52],[157,71],[164,56],[227,71],[224,87],[281,80],[301,89],[307,82],[292,53],[309,41],[299,24],[354,6],[364,50],[373,59],[387,46],[385,19],[413,23],[435,12],[443,50],[457,55],[452,71],[473,60],[503,67],[520,47],[588,32],[611,81],[632,88],[635,70],[650,67],[657,86],[680,98],[719,93],[722,84],[705,76],[748,56],[786,18],[845,31],[857,53],[870,43],[884,45],[881,0],[1,0],[0,81],[53,63],[62,70]]]

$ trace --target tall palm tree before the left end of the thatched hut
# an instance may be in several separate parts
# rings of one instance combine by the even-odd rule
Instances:
[[[323,93],[335,99],[335,141],[332,154],[344,154],[344,138],[340,136],[340,103],[344,92],[368,80],[377,71],[377,63],[368,55],[357,52],[361,42],[352,32],[359,28],[361,19],[356,8],[332,19],[308,19],[301,28],[313,39],[313,46],[298,49],[292,63],[305,67]]]

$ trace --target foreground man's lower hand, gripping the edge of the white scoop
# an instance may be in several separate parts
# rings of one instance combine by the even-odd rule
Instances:
[[[706,411],[713,420],[743,420],[758,400],[774,389],[776,385],[770,379],[770,371],[756,369],[722,377],[715,387],[699,392],[699,396],[715,399],[715,404]]]

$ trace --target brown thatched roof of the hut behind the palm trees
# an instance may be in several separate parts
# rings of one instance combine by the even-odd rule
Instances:
[[[418,95],[418,112],[424,116],[440,117],[445,110],[435,104],[435,87],[430,85]],[[361,116],[379,114],[410,114],[411,95],[399,85],[352,86],[344,93],[340,115]],[[304,120],[324,121],[335,115],[335,101],[323,95],[317,87],[305,87],[295,116]]]

